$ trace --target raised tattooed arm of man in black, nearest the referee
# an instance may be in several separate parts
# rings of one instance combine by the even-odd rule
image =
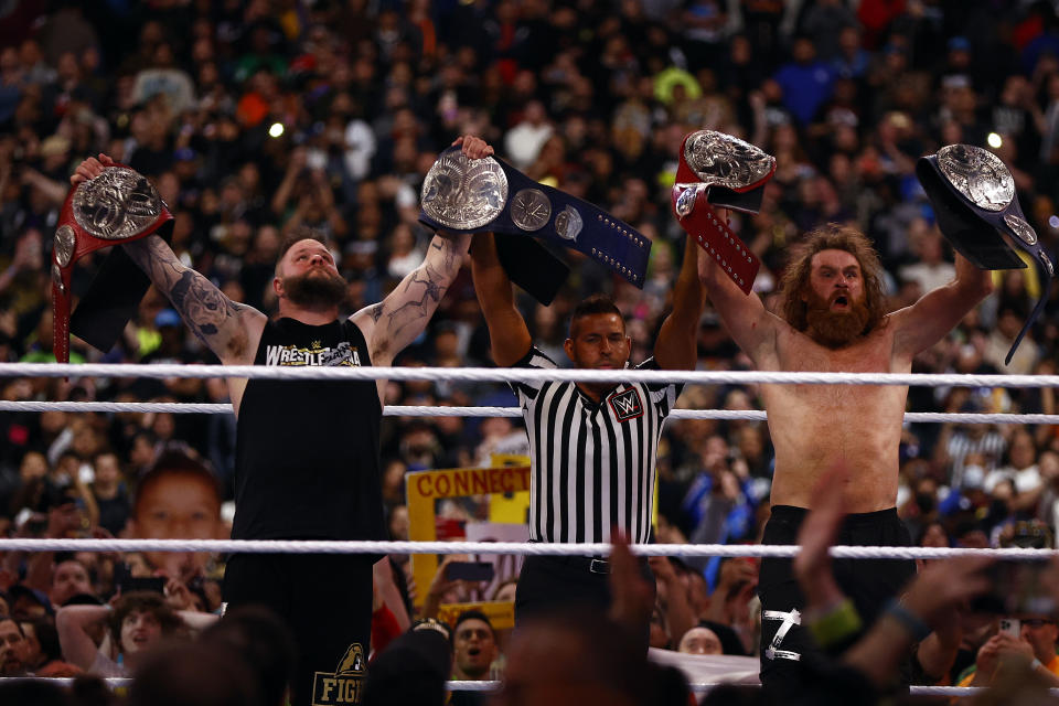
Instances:
[[[368,340],[374,365],[388,365],[427,328],[441,298],[463,265],[471,243],[467,234],[438,233],[422,264],[383,301],[353,314]]]

